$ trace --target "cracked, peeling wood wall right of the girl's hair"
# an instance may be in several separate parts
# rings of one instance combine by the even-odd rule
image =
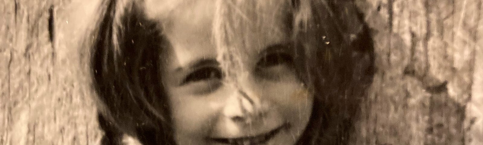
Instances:
[[[483,144],[482,1],[356,3],[374,32],[378,72],[354,143]]]

